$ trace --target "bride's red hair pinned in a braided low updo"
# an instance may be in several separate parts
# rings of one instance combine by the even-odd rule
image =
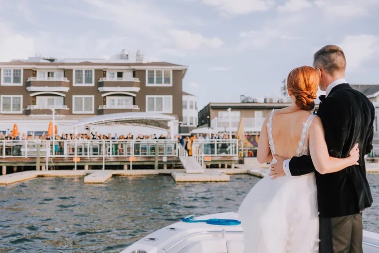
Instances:
[[[288,74],[287,89],[300,109],[309,111],[315,107],[319,81],[317,70],[310,66],[295,68]]]

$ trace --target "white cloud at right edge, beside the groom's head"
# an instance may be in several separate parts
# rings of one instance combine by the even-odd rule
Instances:
[[[346,36],[339,46],[344,50],[347,68],[357,68],[368,59],[379,56],[378,35]]]

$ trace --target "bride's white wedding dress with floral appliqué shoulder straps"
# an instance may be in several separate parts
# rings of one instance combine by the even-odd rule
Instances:
[[[271,111],[267,133],[271,153]],[[303,123],[297,156],[308,155],[308,129],[315,115]],[[275,163],[273,159],[271,164]],[[261,179],[247,194],[239,210],[244,233],[244,253],[317,253],[319,219],[314,173]]]

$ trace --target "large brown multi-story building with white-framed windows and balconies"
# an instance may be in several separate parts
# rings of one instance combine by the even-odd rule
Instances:
[[[182,80],[187,66],[111,60],[29,57],[0,63],[0,131],[47,131],[55,109],[58,132],[78,120],[120,112],[169,114],[183,120]],[[109,129],[109,126],[107,126]],[[110,130],[111,131],[111,130]]]

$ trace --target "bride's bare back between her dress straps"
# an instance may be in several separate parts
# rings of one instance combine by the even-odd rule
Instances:
[[[272,118],[272,138],[275,153],[285,159],[297,155],[299,141],[305,123],[311,113],[291,107],[276,110]],[[308,138],[308,136],[307,136]]]

